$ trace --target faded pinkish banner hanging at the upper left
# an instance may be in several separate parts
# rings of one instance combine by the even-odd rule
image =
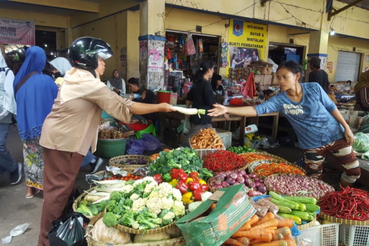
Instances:
[[[0,18],[0,43],[35,45],[35,22]]]

